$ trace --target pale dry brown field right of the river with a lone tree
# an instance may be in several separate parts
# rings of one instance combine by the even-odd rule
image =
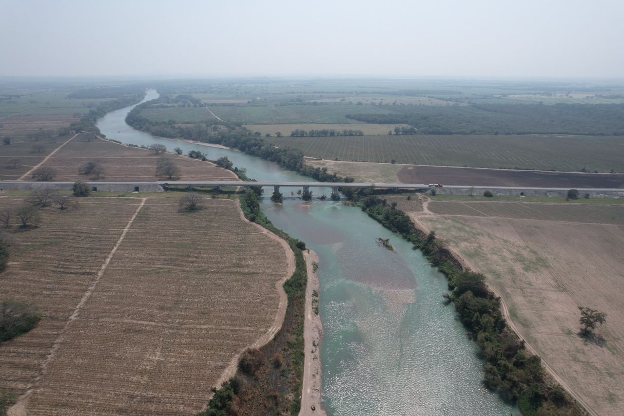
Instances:
[[[404,197],[394,200],[403,208]],[[593,414],[624,414],[624,206],[425,201],[405,208],[485,274],[519,334]],[[592,342],[577,335],[578,306],[607,312]]]

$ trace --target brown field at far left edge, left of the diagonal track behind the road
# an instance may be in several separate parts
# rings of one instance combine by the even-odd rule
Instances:
[[[29,140],[28,135],[40,130],[54,130],[69,127],[76,119],[69,115],[12,115],[0,119],[0,137],[11,137],[13,143],[0,143],[0,180],[16,180],[41,162],[52,150],[71,136],[54,137],[52,140]],[[41,152],[32,152],[32,145],[43,145]],[[18,158],[16,168],[8,166],[9,160]]]

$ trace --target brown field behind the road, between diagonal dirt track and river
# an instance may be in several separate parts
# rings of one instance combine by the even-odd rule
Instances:
[[[162,155],[103,139],[91,138],[87,141],[85,137],[86,134],[77,136],[43,163],[42,166],[57,170],[59,174],[55,180],[92,180],[91,177],[78,173],[80,167],[91,161],[99,162],[105,169],[105,174],[100,180],[158,180],[155,176],[156,163]],[[169,153],[166,157],[172,158],[180,168],[182,173],[179,179],[182,180],[239,180],[235,173],[217,167],[213,163]],[[32,180],[32,178],[24,179]]]

